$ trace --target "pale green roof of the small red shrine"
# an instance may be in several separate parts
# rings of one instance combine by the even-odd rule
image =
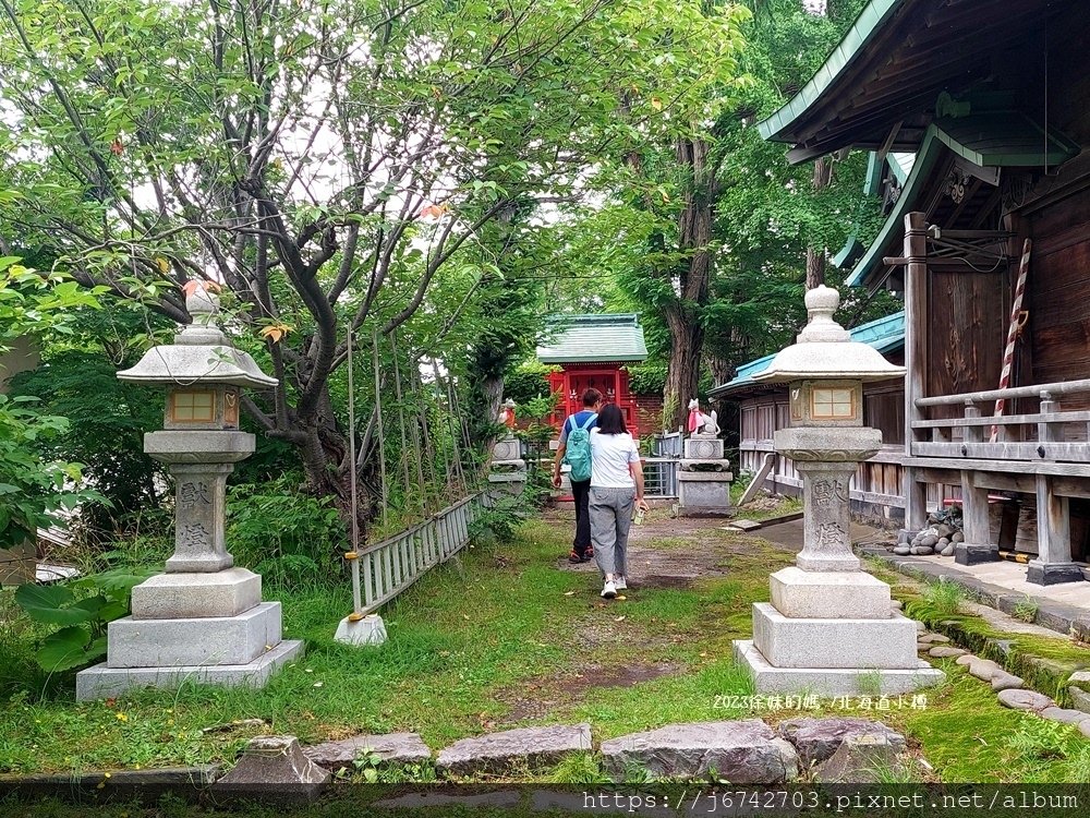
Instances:
[[[561,315],[537,347],[542,363],[642,361],[647,357],[640,316],[632,313]]]

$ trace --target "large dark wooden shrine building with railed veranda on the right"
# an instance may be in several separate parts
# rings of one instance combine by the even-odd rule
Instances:
[[[791,161],[916,155],[848,279],[904,293],[905,527],[959,498],[958,562],[995,560],[1015,500],[1043,585],[1083,579],[1090,530],[1088,33],[1078,0],[871,0],[760,125]]]

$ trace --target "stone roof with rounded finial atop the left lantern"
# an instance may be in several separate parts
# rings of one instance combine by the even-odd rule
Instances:
[[[257,362],[216,326],[219,298],[204,289],[185,297],[185,309],[193,316],[174,336],[173,344],[153,347],[140,362],[118,373],[122,381],[142,384],[190,386],[195,383],[226,384],[268,388],[277,385]]]

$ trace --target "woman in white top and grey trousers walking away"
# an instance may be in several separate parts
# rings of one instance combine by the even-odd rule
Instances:
[[[602,596],[613,599],[628,587],[628,529],[633,506],[647,510],[643,498],[640,452],[616,404],[598,412],[591,430],[591,492],[589,512],[594,558],[605,575]]]

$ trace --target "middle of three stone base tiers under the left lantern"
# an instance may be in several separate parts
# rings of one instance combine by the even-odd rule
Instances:
[[[238,616],[136,619],[109,624],[109,667],[246,664],[280,643],[280,603]]]

